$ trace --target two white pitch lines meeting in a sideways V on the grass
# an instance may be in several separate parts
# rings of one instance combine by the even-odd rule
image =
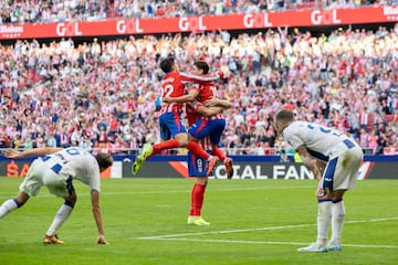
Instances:
[[[370,220],[357,220],[346,221],[345,223],[367,223],[367,222],[385,222],[398,220],[397,218],[384,218],[384,219],[370,219]],[[157,241],[186,241],[186,242],[208,242],[208,243],[232,243],[232,244],[268,244],[268,245],[306,245],[308,243],[302,242],[277,242],[277,241],[240,241],[240,240],[209,240],[209,239],[191,239],[189,236],[198,235],[214,235],[214,234],[231,234],[242,232],[254,231],[271,231],[271,230],[287,230],[315,226],[315,224],[296,224],[296,225],[282,225],[282,226],[269,226],[269,227],[254,227],[254,229],[241,229],[241,230],[224,230],[224,231],[208,231],[197,233],[180,233],[180,234],[166,234],[166,235],[151,235],[140,236],[137,240],[157,240]],[[358,245],[358,244],[343,244],[348,247],[364,247],[364,248],[398,248],[398,245]]]

